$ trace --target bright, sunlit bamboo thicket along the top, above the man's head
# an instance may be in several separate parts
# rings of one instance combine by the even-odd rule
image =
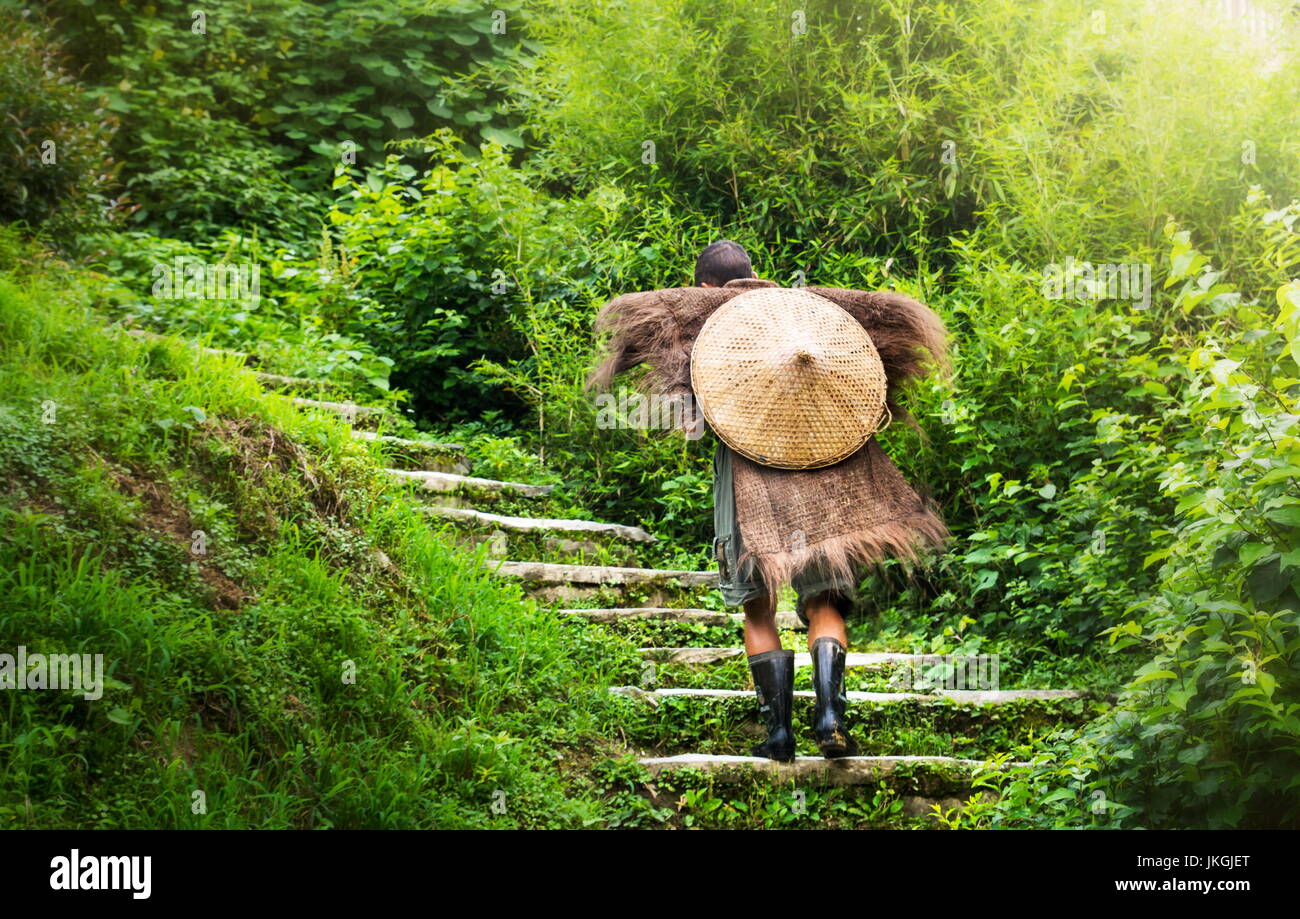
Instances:
[[[859,253],[914,270],[982,224],[1004,252],[1101,260],[1158,244],[1167,212],[1226,233],[1243,178],[1291,194],[1290,34],[1098,12],[1100,30],[1071,1],[559,0],[520,94],[569,185],[619,177],[740,227],[781,282],[854,281],[833,266]]]

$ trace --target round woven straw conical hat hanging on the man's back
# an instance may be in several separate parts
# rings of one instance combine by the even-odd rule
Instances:
[[[866,329],[801,289],[749,290],[714,311],[696,338],[690,383],[727,446],[777,469],[838,463],[888,415]]]

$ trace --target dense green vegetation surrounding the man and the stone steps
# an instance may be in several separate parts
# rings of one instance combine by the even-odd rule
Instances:
[[[394,406],[707,565],[707,442],[598,429],[582,383],[594,309],[719,237],[953,333],[924,433],[884,446],[957,539],[868,578],[855,628],[1118,694],[1004,744],[1040,762],[949,823],[1300,823],[1295,17],[497,9],[0,0],[0,645],[121,662],[98,703],[0,699],[0,823],[663,820],[602,692],[634,643],[474,573],[377,454],[229,359],[110,326]],[[261,296],[155,295],[177,259],[255,264]]]

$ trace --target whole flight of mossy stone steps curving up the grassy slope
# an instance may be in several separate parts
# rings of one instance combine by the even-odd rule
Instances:
[[[318,387],[318,381],[281,374],[259,373],[259,380],[269,389]],[[330,412],[350,425],[385,411],[291,398],[304,411]],[[640,647],[645,663],[641,684],[610,686],[614,705],[628,706],[630,727],[624,741],[641,749],[638,762],[653,794],[660,784],[675,792],[698,783],[733,789],[741,798],[758,785],[774,784],[789,789],[884,789],[902,798],[905,814],[915,818],[936,802],[961,806],[974,771],[992,754],[1006,751],[997,747],[1009,746],[1009,720],[1023,720],[1032,734],[1069,719],[1063,707],[1074,703],[1078,708],[1088,698],[1084,692],[1049,689],[922,686],[913,692],[893,684],[852,689],[859,680],[883,682],[890,675],[915,672],[933,658],[850,649],[848,671],[854,682],[848,692],[849,720],[863,754],[828,760],[810,755],[815,750],[806,725],[814,693],[798,686],[810,685],[811,662],[800,647],[794,716],[801,755],[792,763],[746,755],[762,729],[741,641],[744,616],[701,606],[706,598],[716,604],[716,572],[638,564],[637,554],[656,543],[640,526],[520,512],[521,506],[545,504],[554,486],[471,476],[463,445],[356,429],[352,435],[382,447],[393,463],[385,474],[428,502],[421,510],[430,520],[452,525],[469,543],[491,539],[488,564],[495,576],[520,582],[538,601],[556,604],[559,615],[586,627],[654,640]],[[503,504],[507,512],[499,512]],[[602,554],[621,554],[624,564],[588,563]],[[788,647],[803,643],[798,634],[803,627],[792,611],[777,612],[777,627]],[[663,637],[676,638],[676,643],[659,641]],[[918,741],[942,751],[904,749]],[[958,755],[962,751],[980,755]],[[1002,760],[1005,764],[1006,757]]]

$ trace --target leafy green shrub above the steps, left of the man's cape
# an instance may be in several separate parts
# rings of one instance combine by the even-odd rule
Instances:
[[[370,339],[395,360],[417,413],[465,420],[500,404],[495,387],[471,370],[474,361],[525,348],[529,363],[556,361],[545,347],[562,334],[552,317],[568,322],[564,370],[578,369],[585,347],[564,304],[581,281],[572,270],[549,272],[569,268],[564,250],[589,229],[598,203],[549,199],[499,144],[471,157],[443,131],[417,146],[430,153],[419,175],[396,157],[365,182],[341,169],[334,185],[346,191],[329,218],[358,282],[380,304]],[[520,328],[552,338],[523,339]],[[540,390],[520,395],[536,404]]]

